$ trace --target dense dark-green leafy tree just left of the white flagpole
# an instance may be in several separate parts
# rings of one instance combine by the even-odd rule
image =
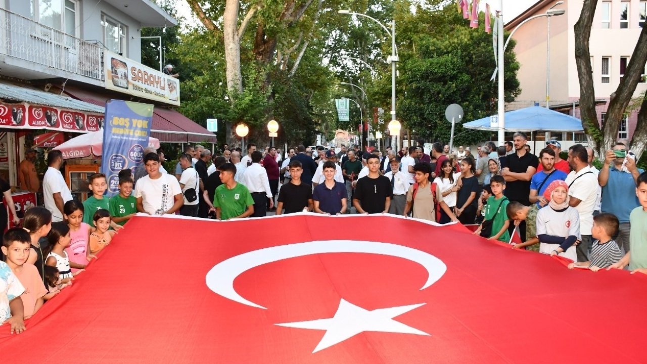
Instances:
[[[417,137],[448,142],[451,124],[444,118],[448,105],[461,104],[465,120],[494,115],[498,88],[490,82],[496,66],[492,36],[482,27],[467,27],[455,3],[399,14],[398,115],[404,126]],[[483,20],[481,14],[479,23]],[[511,102],[521,91],[513,41],[506,50],[505,62],[505,99]],[[381,92],[379,98],[385,106],[390,101],[389,84],[390,78],[382,78],[372,90]],[[465,130],[457,124],[454,142],[472,144],[487,138],[487,133]]]

